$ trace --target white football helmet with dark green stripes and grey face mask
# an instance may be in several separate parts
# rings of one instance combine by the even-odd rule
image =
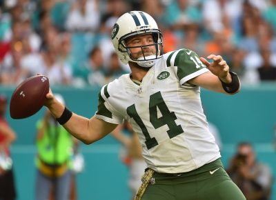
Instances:
[[[130,53],[130,48],[126,46],[126,39],[139,34],[152,34],[155,43],[139,46],[143,52],[143,56],[134,59]],[[155,64],[157,59],[162,57],[163,39],[161,31],[158,29],[155,19],[146,12],[131,11],[123,14],[113,26],[111,38],[113,46],[124,64],[132,61],[138,63],[141,67],[150,68]],[[144,48],[147,46],[155,46],[156,54],[145,56]]]

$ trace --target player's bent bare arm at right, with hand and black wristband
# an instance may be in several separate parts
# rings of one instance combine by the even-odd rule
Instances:
[[[213,59],[213,63],[209,63],[203,57],[200,61],[206,65],[210,72],[200,74],[188,82],[194,85],[221,92],[226,94],[235,94],[240,90],[239,79],[236,74],[229,71],[229,66],[220,55],[210,54],[208,59]]]

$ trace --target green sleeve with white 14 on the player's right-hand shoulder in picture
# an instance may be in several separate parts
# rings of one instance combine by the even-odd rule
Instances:
[[[173,66],[177,67],[177,77],[179,77],[179,80],[202,68],[206,68],[204,63],[199,60],[198,55],[188,49],[172,52],[167,59],[168,63],[173,63]]]

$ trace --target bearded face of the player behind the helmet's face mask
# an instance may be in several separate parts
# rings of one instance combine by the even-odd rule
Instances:
[[[138,59],[139,57],[154,55],[156,53],[154,43],[152,34],[141,34],[128,39],[126,46],[130,48],[132,59]],[[141,46],[144,47],[141,48]]]

